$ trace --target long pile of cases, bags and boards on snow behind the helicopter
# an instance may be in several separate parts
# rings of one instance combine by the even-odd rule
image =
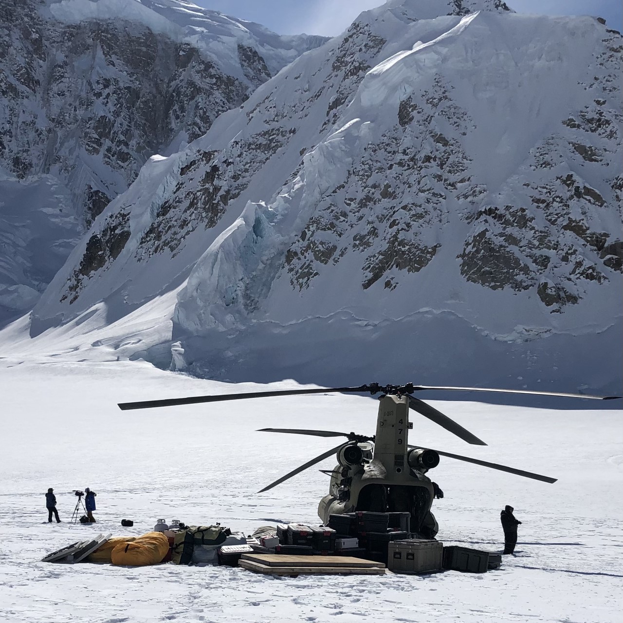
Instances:
[[[162,563],[225,565],[272,575],[429,573],[442,569],[485,572],[502,564],[499,553],[447,546],[412,533],[409,513],[330,515],[327,526],[277,524],[253,534],[220,524],[186,526],[159,520],[141,536],[99,534],[45,556],[50,563]]]

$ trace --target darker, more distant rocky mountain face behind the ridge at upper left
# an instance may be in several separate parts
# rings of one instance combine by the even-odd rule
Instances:
[[[14,177],[16,191],[24,186],[13,207],[45,212],[44,203],[29,203],[28,187],[37,176],[50,176],[70,197],[58,207],[75,217],[69,238],[77,238],[147,158],[201,136],[220,113],[325,41],[282,40],[216,12],[204,11],[199,28],[194,9],[183,17],[181,7],[193,5],[0,0],[0,167]],[[22,221],[27,228],[26,214]],[[9,246],[7,258],[14,251]],[[27,247],[33,258],[37,253]],[[47,282],[34,266],[24,268],[0,281],[0,289],[42,291]],[[30,308],[25,305],[22,311]]]

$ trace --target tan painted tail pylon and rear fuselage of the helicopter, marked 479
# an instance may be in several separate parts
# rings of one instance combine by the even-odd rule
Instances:
[[[322,498],[318,506],[318,516],[323,523],[328,523],[330,514],[351,513],[356,510],[363,488],[376,483],[426,488],[429,492],[427,511],[434,522],[430,513],[434,495],[432,483],[424,475],[426,470],[410,468],[407,463],[407,435],[411,428],[409,397],[389,395],[381,398],[372,455],[370,456],[371,443],[359,443],[359,448],[364,451],[364,458],[368,458],[367,461],[364,460],[363,466],[338,465],[333,470],[329,495]],[[341,486],[348,478],[351,478],[350,485]],[[340,500],[340,497],[345,497],[345,493],[349,494],[348,500]]]

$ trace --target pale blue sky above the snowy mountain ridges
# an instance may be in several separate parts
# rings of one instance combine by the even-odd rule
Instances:
[[[382,4],[380,0],[194,0],[199,6],[259,22],[279,34],[307,32],[336,36],[344,31],[361,11]],[[620,0],[512,0],[508,4],[521,13],[545,15],[595,15],[609,26],[621,30]]]

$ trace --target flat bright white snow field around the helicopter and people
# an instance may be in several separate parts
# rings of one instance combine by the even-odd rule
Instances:
[[[2,621],[620,621],[620,410],[435,402],[488,447],[468,447],[414,416],[411,443],[559,478],[546,485],[443,458],[430,474],[445,493],[433,507],[444,543],[500,549],[499,511],[515,506],[523,521],[518,556],[505,556],[499,571],[273,579],[224,567],[60,566],[39,561],[85,533],[139,534],[161,516],[221,521],[245,533],[282,520],[319,521],[327,483],[315,468],[265,494],[255,491],[330,444],[255,430],[372,433],[376,401],[316,395],[121,412],[117,402],[260,386],[192,379],[142,362],[61,357],[43,365],[6,349],[2,355]],[[59,525],[41,523],[49,486]],[[74,526],[67,523],[72,490],[85,486],[98,493],[98,523]],[[126,517],[134,528],[121,528]]]

